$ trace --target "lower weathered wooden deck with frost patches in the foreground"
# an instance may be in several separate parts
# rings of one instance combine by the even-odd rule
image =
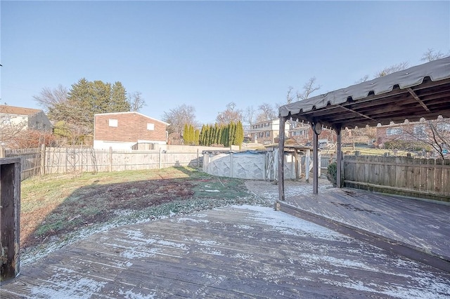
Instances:
[[[2,299],[449,296],[448,272],[251,206],[95,234],[22,265],[0,290]]]

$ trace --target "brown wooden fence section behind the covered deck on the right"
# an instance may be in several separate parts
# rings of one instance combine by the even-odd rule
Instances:
[[[345,156],[344,183],[346,187],[450,201],[450,160]]]

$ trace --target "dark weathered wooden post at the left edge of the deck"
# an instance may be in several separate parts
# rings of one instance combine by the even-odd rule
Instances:
[[[20,158],[0,159],[0,281],[20,272]]]

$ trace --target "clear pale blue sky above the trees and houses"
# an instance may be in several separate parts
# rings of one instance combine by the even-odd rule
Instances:
[[[35,107],[44,87],[114,83],[162,119],[186,104],[213,123],[285,102],[311,77],[318,95],[450,51],[449,1],[1,1],[1,104]]]

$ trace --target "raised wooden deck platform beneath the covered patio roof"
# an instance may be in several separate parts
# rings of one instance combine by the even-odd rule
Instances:
[[[281,211],[450,272],[450,205],[332,188],[290,196]]]

